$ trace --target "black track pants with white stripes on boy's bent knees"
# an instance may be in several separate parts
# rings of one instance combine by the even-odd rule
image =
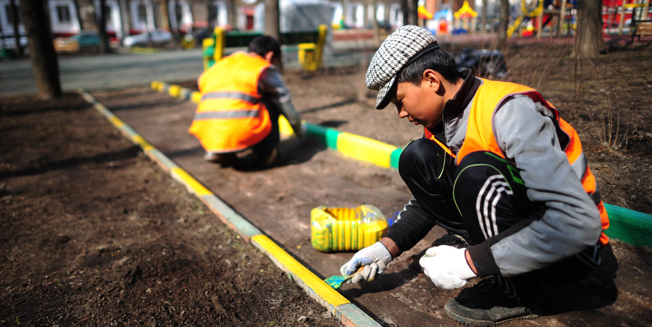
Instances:
[[[486,152],[455,159],[425,138],[402,152],[399,173],[436,224],[470,244],[506,231],[530,215],[532,204],[516,168]]]

